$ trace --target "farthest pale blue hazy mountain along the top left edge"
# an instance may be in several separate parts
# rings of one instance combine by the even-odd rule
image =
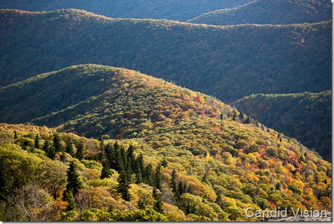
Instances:
[[[186,21],[205,12],[242,6],[251,0],[0,0],[0,8],[52,11],[87,10],[112,18],[170,19]]]

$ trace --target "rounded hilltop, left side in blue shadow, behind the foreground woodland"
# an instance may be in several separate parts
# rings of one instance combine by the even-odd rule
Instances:
[[[80,65],[0,88],[1,122],[33,122],[86,136],[136,137],[144,127],[206,115],[227,118],[213,97],[124,68]]]

